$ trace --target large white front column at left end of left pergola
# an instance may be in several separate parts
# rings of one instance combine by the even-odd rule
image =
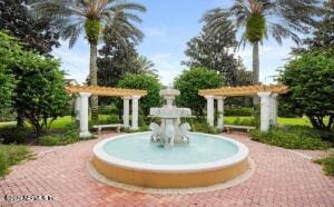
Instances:
[[[80,138],[90,137],[91,134],[89,132],[88,128],[88,98],[90,97],[90,92],[79,92],[80,96],[80,110],[79,110],[79,118],[80,118]]]

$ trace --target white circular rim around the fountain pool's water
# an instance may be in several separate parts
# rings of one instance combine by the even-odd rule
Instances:
[[[230,166],[234,166],[234,165],[247,159],[248,154],[249,154],[248,148],[239,141],[236,141],[234,139],[226,138],[223,136],[202,134],[202,132],[190,132],[190,135],[203,135],[203,136],[210,136],[210,137],[214,137],[217,139],[225,139],[232,144],[236,145],[238,148],[238,151],[232,157],[219,159],[216,161],[204,162],[204,164],[156,165],[156,164],[143,164],[143,162],[120,159],[120,158],[114,157],[111,155],[108,155],[104,150],[104,146],[109,141],[112,141],[115,139],[121,139],[121,138],[125,138],[128,136],[136,136],[136,135],[144,135],[144,134],[147,134],[149,136],[150,131],[137,132],[137,134],[126,134],[126,135],[119,135],[116,137],[107,138],[107,139],[98,142],[94,147],[94,156],[104,162],[107,162],[112,166],[118,166],[118,167],[125,168],[125,169],[130,169],[130,170],[136,170],[136,171],[178,174],[178,172],[198,172],[198,171],[208,171],[208,170],[228,168]]]

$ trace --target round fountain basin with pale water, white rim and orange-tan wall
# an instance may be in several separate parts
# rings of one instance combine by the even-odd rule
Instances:
[[[188,188],[220,184],[248,169],[243,144],[190,132],[190,144],[164,148],[150,142],[150,132],[105,139],[94,148],[92,165],[114,181],[149,188]]]

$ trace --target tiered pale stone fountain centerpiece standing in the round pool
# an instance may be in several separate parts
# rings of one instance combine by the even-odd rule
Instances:
[[[189,142],[187,135],[190,125],[185,122],[179,126],[179,120],[181,117],[190,117],[191,110],[189,108],[177,108],[173,105],[175,97],[178,95],[179,91],[175,89],[161,90],[160,96],[166,100],[167,105],[163,108],[150,108],[150,116],[161,119],[161,126],[155,122],[150,124],[150,140],[160,142],[165,147],[174,146],[175,142]]]

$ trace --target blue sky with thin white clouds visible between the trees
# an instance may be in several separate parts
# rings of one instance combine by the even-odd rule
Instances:
[[[186,60],[184,55],[186,42],[198,36],[202,29],[199,22],[203,14],[214,8],[228,8],[233,0],[132,0],[147,8],[140,14],[143,22],[138,24],[145,33],[143,43],[137,47],[140,55],[155,63],[161,82],[173,83],[185,68],[180,62]],[[291,40],[279,46],[273,39],[265,40],[261,46],[261,81],[272,83],[277,69],[283,67],[289,57]],[[69,49],[66,41],[55,49],[53,55],[61,59],[61,68],[68,78],[84,82],[89,73],[89,45],[81,37],[73,48]],[[247,70],[252,70],[252,48],[240,48],[235,56],[240,56]]]

